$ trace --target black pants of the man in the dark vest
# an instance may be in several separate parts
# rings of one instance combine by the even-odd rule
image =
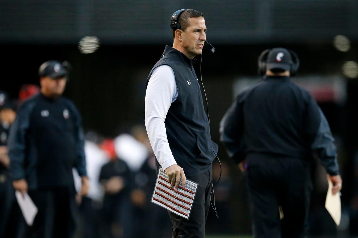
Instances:
[[[185,171],[184,171],[185,172]],[[205,223],[210,208],[210,193],[212,190],[212,170],[211,168],[202,174],[188,176],[198,183],[197,193],[195,194],[192,211],[189,220],[169,212],[172,227],[172,238],[204,238]]]

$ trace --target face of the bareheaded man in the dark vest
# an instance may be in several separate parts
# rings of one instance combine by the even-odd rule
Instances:
[[[193,59],[195,55],[203,52],[206,40],[206,26],[204,17],[192,17],[188,19],[189,26],[182,32],[182,45],[184,55]]]

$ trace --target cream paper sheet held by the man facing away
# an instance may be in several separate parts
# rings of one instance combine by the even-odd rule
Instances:
[[[332,182],[328,180],[328,191],[326,196],[326,204],[325,208],[329,212],[329,214],[332,216],[334,222],[337,224],[337,226],[340,223],[340,217],[342,215],[342,209],[340,204],[340,193],[332,194]]]

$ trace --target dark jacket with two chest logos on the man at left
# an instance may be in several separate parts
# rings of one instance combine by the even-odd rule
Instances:
[[[10,175],[29,189],[68,186],[86,175],[81,116],[71,101],[42,93],[25,101],[10,129]]]

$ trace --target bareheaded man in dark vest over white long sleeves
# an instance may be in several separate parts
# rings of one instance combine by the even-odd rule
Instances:
[[[169,212],[172,237],[205,237],[212,186],[212,161],[218,146],[212,142],[193,58],[202,54],[205,20],[193,9],[171,17],[173,47],[166,46],[147,79],[145,125],[151,146],[171,186],[180,177],[199,184],[189,220]]]

